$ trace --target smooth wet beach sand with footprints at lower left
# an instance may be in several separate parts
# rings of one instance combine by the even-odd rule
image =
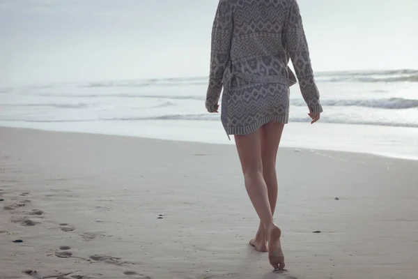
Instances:
[[[0,128],[0,160],[1,279],[418,278],[418,161],[280,149],[272,273],[234,146]]]

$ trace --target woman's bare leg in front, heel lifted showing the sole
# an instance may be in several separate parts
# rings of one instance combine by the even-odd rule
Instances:
[[[281,231],[273,223],[268,188],[263,178],[262,131],[263,129],[258,129],[250,135],[236,135],[235,144],[240,156],[245,188],[269,239],[270,264],[276,269],[284,269],[284,256],[280,246]]]

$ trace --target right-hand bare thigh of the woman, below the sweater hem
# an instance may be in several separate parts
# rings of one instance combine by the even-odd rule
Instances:
[[[261,158],[265,167],[276,165],[277,150],[284,125],[284,123],[270,121],[261,129]]]

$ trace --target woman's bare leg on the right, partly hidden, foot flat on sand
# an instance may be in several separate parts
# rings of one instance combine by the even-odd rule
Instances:
[[[274,215],[277,204],[277,150],[283,133],[284,123],[271,121],[261,128],[261,158],[263,161],[263,178],[268,190],[270,209]],[[267,235],[261,224],[258,226],[256,237],[249,242],[256,250],[267,252]]]

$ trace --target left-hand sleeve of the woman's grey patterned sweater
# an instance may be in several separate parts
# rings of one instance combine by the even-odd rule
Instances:
[[[215,112],[217,109],[223,86],[222,78],[229,61],[232,33],[233,17],[230,0],[219,0],[210,46],[210,74],[205,103],[209,112]]]

